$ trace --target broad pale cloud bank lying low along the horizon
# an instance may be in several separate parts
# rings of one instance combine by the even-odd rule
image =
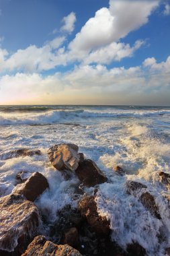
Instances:
[[[169,104],[170,56],[161,63],[157,63],[154,58],[148,58],[143,64],[128,69],[108,69],[105,65],[79,65],[72,71],[47,77],[38,73],[3,75],[0,78],[0,101],[18,102],[22,98],[25,104],[30,103],[29,99],[32,99],[33,104],[82,104],[83,95],[84,104],[94,103],[97,97],[99,101],[95,103],[101,104],[103,96],[103,104],[108,100],[111,100],[108,101],[110,104],[134,104],[135,99],[139,98],[141,102],[149,104],[149,101],[144,101],[149,95],[156,104],[161,95],[162,104]],[[121,97],[116,98],[118,95]],[[126,101],[128,97],[131,102]],[[89,98],[93,99],[93,102],[89,102]],[[122,101],[119,102],[120,99]]]

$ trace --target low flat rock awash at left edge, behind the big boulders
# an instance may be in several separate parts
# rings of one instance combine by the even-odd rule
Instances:
[[[40,156],[41,152],[40,150],[29,150],[28,148],[22,148],[19,150],[11,150],[8,152],[5,152],[1,154],[0,159],[1,160],[7,160],[11,158],[19,158],[20,156],[35,156],[38,155]]]

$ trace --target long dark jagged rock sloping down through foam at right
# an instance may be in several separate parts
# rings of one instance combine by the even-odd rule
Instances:
[[[156,205],[153,195],[146,191],[146,185],[138,183],[136,181],[128,181],[126,183],[126,188],[127,193],[138,197],[144,207],[146,207],[146,209],[151,212],[153,216],[155,216],[159,220],[161,219],[161,216],[159,214],[159,207]]]

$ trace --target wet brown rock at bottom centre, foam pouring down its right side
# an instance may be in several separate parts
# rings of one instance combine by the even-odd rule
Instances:
[[[97,234],[103,236],[110,234],[110,222],[107,218],[99,216],[94,196],[84,197],[79,201],[79,210]]]

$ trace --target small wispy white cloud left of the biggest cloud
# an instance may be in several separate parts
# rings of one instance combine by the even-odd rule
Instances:
[[[63,26],[60,28],[61,31],[68,32],[69,34],[75,29],[76,16],[74,12],[62,19]]]

